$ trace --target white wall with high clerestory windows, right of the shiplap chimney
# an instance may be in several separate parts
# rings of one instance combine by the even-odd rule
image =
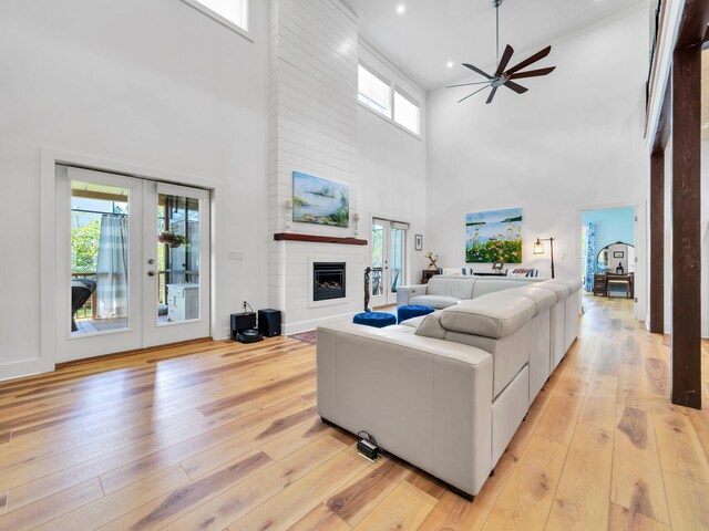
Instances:
[[[421,135],[409,133],[390,119],[358,105],[358,155],[362,197],[362,238],[371,240],[371,218],[410,223],[407,251],[408,279],[418,284],[428,260],[427,216],[427,95],[387,58],[360,40],[360,59],[420,103]],[[415,251],[414,235],[423,235],[423,250]]]

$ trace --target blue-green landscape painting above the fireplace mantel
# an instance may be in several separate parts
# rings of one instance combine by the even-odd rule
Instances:
[[[340,183],[294,171],[292,220],[301,223],[349,227],[349,187]]]

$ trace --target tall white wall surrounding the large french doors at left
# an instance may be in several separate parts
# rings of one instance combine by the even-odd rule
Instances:
[[[265,305],[268,12],[251,3],[254,42],[177,0],[2,2],[0,378],[40,352],[41,146],[214,181],[216,335],[243,300]]]

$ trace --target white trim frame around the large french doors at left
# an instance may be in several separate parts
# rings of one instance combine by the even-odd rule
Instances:
[[[42,147],[40,148],[40,356],[13,364],[3,365],[3,377],[12,378],[29,374],[53,371],[56,364],[56,347],[54,344],[55,331],[55,167],[58,164],[76,166],[99,171],[121,174],[129,177],[173,183],[176,185],[196,186],[210,191],[210,236],[209,236],[209,269],[212,273],[210,292],[210,325],[213,337],[218,337],[216,326],[216,302],[218,294],[215,290],[217,283],[215,239],[215,218],[218,211],[220,198],[219,186],[216,181],[204,177],[175,174],[155,168],[146,168],[130,163],[110,160],[82,155],[78,153]]]

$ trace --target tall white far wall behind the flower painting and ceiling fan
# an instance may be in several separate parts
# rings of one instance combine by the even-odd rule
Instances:
[[[532,251],[536,237],[553,236],[557,275],[575,277],[582,207],[644,210],[647,21],[641,10],[553,43],[538,64],[556,71],[521,80],[524,95],[503,87],[485,105],[483,94],[458,104],[463,88],[431,94],[429,243],[441,266],[463,266],[465,212],[522,207],[524,266],[548,274],[548,254]]]

